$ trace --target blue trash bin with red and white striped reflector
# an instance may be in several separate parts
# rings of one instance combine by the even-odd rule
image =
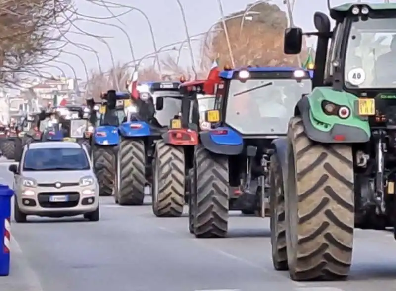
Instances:
[[[14,191],[0,184],[0,227],[2,228],[2,248],[0,251],[0,276],[9,275],[11,242],[11,197]]]

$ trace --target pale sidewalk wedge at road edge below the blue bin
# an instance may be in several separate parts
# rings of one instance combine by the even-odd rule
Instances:
[[[11,270],[7,277],[0,277],[0,291],[43,291],[40,281],[23,252],[11,238]]]

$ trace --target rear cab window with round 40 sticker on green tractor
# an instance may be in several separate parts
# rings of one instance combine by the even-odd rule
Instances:
[[[351,24],[345,59],[348,88],[396,88],[396,18]]]

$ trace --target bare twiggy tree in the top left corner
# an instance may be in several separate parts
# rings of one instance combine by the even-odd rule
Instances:
[[[18,84],[34,66],[57,57],[71,5],[70,0],[0,1],[0,84]]]

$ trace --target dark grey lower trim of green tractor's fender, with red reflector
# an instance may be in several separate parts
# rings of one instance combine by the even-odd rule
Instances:
[[[309,139],[318,143],[365,143],[370,139],[362,128],[342,123],[335,123],[329,131],[318,130],[313,125],[314,121],[308,98],[308,96],[304,96],[298,101],[297,112],[300,113],[304,132]],[[340,119],[340,121],[342,120]],[[337,139],[337,136],[343,137],[342,140]]]

